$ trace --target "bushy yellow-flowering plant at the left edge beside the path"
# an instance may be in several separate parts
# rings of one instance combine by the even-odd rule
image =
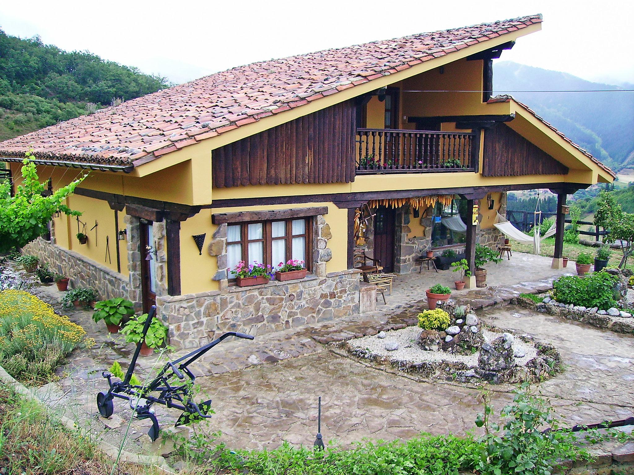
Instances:
[[[48,381],[68,353],[91,346],[86,331],[20,290],[0,291],[0,365],[22,381]]]

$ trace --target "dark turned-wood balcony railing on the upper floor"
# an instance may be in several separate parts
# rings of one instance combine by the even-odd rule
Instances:
[[[357,129],[356,140],[357,174],[477,171],[472,133]]]

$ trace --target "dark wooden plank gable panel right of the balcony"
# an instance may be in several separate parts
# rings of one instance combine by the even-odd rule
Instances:
[[[527,141],[505,124],[484,131],[485,177],[520,175],[565,175],[568,167]]]

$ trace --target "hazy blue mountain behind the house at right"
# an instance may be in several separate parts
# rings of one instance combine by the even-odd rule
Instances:
[[[493,66],[493,89],[536,111],[575,143],[615,170],[634,167],[634,85],[590,82],[571,74],[500,61]]]

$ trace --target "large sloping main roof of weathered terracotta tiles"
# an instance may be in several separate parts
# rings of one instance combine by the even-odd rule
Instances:
[[[0,156],[138,165],[349,87],[540,23],[541,15],[263,61],[0,143]]]

